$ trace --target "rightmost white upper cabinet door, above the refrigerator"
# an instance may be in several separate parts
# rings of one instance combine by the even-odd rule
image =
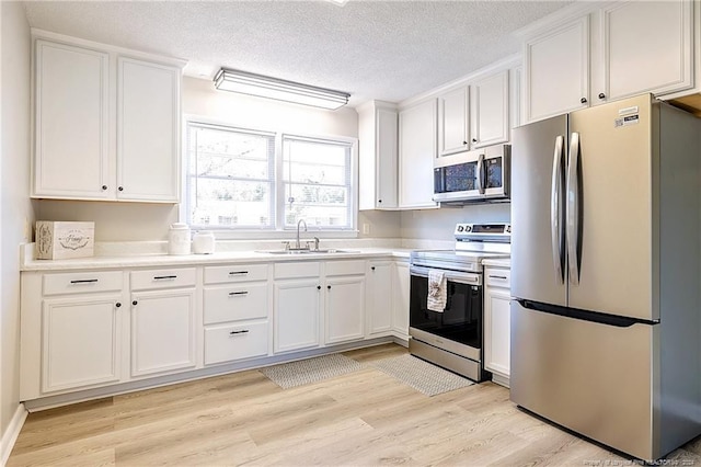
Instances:
[[[693,87],[692,2],[629,1],[601,10],[604,99]]]

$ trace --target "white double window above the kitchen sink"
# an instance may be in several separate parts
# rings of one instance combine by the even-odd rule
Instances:
[[[194,228],[355,229],[355,140],[186,126],[183,210]]]

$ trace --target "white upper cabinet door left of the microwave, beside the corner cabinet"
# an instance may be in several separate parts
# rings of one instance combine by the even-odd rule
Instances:
[[[400,207],[436,207],[433,201],[436,100],[402,111],[399,134]]]

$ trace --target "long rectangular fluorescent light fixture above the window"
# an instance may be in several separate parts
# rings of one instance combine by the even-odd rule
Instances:
[[[222,91],[257,95],[260,98],[294,102],[329,110],[348,103],[350,94],[332,89],[317,88],[294,81],[222,68],[215,77],[215,87]]]

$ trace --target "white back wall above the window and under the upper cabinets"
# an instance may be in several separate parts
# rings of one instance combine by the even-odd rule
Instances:
[[[357,138],[358,115],[353,109],[335,112],[286,104],[231,92],[217,91],[210,80],[183,78],[183,115],[276,132],[340,135]],[[43,200],[42,220],[94,220],[97,241],[164,240],[177,220],[176,205],[102,203]],[[368,224],[369,237],[399,237],[398,213],[360,213],[358,226]]]

